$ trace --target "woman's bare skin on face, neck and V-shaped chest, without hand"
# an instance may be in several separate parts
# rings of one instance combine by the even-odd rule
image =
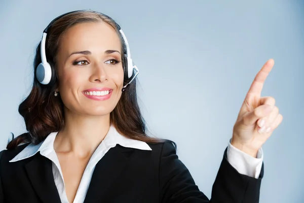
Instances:
[[[106,50],[117,50],[105,54]],[[72,54],[90,51],[91,54]],[[123,87],[121,42],[115,29],[104,22],[70,27],[60,40],[57,54],[59,92],[64,103],[65,126],[54,142],[66,194],[73,202],[82,175],[95,149],[109,129],[109,114],[117,105]],[[115,60],[111,60],[115,59]],[[73,64],[79,61],[78,64]],[[109,99],[87,98],[83,91],[94,87],[113,89]]]

